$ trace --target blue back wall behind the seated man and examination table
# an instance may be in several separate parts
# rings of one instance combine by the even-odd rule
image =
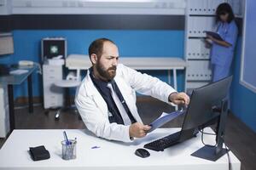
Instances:
[[[40,41],[44,37],[66,37],[67,54],[87,54],[90,42],[99,37],[112,39],[120,56],[159,56],[183,58],[184,31],[119,30],[15,30],[15,54],[0,58],[0,63],[15,64],[21,59],[38,62]],[[167,82],[167,71],[145,71]],[[33,94],[42,96],[42,77],[33,75]],[[177,72],[178,90],[183,90],[183,71]],[[26,96],[26,82],[15,87],[15,97]]]

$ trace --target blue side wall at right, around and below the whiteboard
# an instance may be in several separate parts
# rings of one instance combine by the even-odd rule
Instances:
[[[252,44],[252,48],[253,44]],[[233,82],[231,86],[231,111],[256,132],[256,94],[240,84],[241,37],[238,38],[233,62]]]

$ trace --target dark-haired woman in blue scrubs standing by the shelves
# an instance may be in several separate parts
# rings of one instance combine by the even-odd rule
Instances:
[[[230,74],[230,65],[236,46],[237,26],[235,15],[229,3],[221,3],[216,10],[217,32],[223,40],[207,35],[212,42],[212,82],[216,82]]]

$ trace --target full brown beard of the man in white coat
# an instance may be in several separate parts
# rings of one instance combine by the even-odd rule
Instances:
[[[109,67],[107,71],[104,70],[104,67],[101,63],[96,64],[96,70],[98,71],[99,75],[108,81],[113,80],[116,74],[116,66]]]

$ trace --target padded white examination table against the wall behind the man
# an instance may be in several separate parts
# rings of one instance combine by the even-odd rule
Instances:
[[[120,57],[119,63],[135,70],[166,70],[168,83],[171,84],[173,72],[173,88],[177,90],[177,70],[184,70],[187,63],[176,57]],[[70,70],[87,70],[91,66],[88,55],[71,54],[67,56],[66,66]]]

